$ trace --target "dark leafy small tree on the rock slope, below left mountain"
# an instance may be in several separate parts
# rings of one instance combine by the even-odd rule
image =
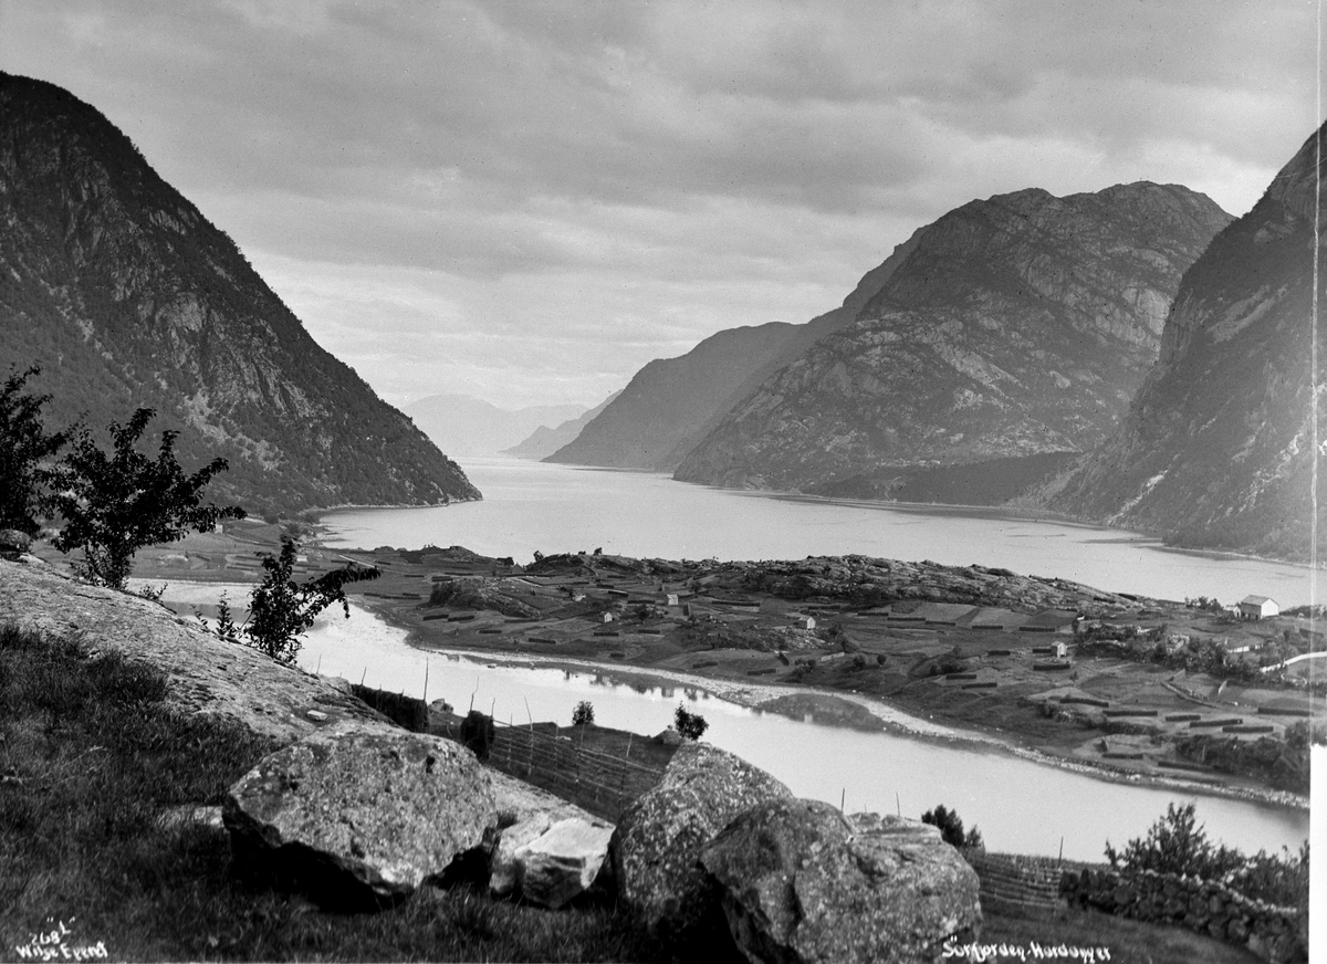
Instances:
[[[184,475],[175,461],[178,432],[162,432],[155,460],[134,447],[154,415],[139,408],[123,426],[111,422],[111,455],[80,428],[73,450],[52,469],[53,501],[65,518],[53,544],[64,553],[82,549],[76,572],[97,585],[123,589],[134,553],[146,545],[173,542],[190,529],[207,532],[222,518],[244,518],[238,505],[200,504],[199,493],[227,469],[226,459]]]

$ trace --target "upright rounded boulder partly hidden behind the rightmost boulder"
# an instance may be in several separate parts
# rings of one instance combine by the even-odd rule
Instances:
[[[746,760],[703,743],[682,744],[660,784],[628,806],[613,834],[613,873],[624,902],[652,930],[686,931],[706,916],[701,849],[729,821],[787,786]]]

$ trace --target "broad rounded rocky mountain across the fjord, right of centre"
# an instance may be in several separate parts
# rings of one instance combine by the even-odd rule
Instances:
[[[1173,184],[965,204],[896,252],[852,324],[744,396],[675,477],[991,501],[986,476],[1007,499],[1115,428],[1181,274],[1229,220]],[[975,464],[990,464],[975,485],[945,477]]]

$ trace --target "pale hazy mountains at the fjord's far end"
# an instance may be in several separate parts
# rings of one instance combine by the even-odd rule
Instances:
[[[456,455],[498,455],[544,423],[576,418],[585,406],[499,408],[470,395],[429,395],[403,411],[438,448]]]

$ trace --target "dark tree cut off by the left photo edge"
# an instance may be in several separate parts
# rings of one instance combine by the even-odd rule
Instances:
[[[50,395],[27,395],[29,378],[41,374],[33,366],[19,371],[13,366],[0,385],[0,529],[19,529],[36,536],[37,520],[49,512],[50,497],[44,492],[49,472],[42,467],[69,442],[69,431],[46,434],[41,407]]]

